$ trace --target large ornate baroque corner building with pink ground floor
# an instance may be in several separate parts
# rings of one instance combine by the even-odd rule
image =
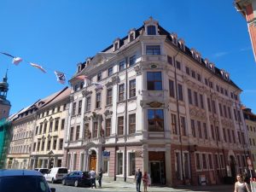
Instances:
[[[84,80],[81,80],[85,78]],[[64,166],[153,184],[221,183],[244,172],[241,89],[150,18],[78,65]]]

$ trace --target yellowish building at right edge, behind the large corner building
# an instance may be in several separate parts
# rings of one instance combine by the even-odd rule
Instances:
[[[247,125],[247,133],[249,137],[251,159],[253,160],[254,172],[256,172],[256,115],[250,108],[242,110],[243,116]]]

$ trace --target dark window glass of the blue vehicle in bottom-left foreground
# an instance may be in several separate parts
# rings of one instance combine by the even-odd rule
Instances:
[[[4,192],[48,192],[44,177],[9,176],[0,177],[0,191]]]

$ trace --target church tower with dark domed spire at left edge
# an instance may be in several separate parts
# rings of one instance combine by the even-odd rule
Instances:
[[[11,108],[10,102],[6,99],[9,84],[7,83],[7,72],[3,81],[0,82],[0,120],[9,117],[9,109]]]

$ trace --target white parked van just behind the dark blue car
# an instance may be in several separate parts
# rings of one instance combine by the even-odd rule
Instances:
[[[53,167],[44,174],[46,181],[51,183],[61,182],[62,178],[67,175],[67,168],[66,167]]]

